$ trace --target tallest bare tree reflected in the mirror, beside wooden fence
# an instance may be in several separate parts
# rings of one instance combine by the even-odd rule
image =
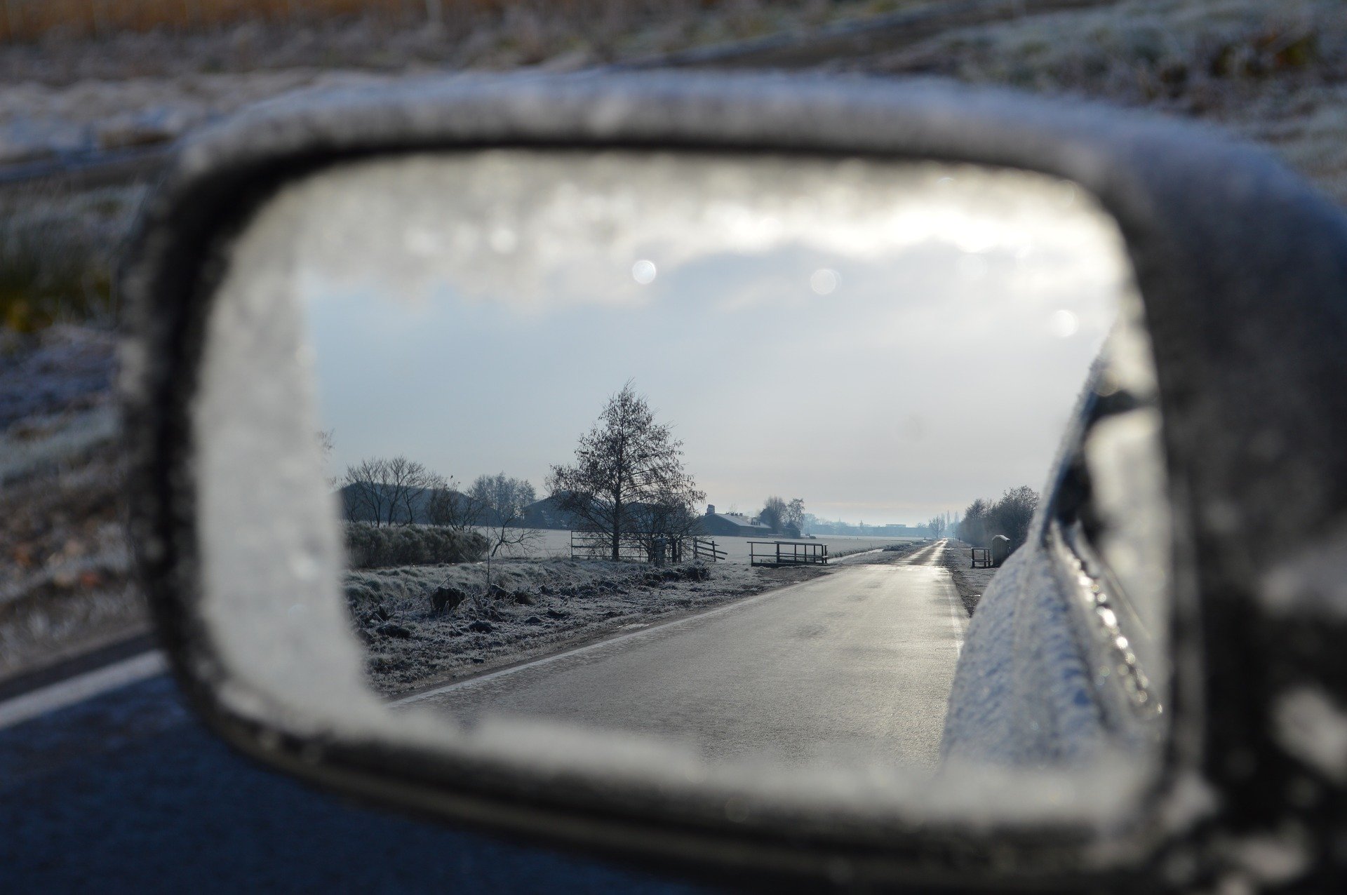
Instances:
[[[598,421],[581,436],[575,463],[554,466],[547,487],[562,510],[605,536],[614,560],[621,559],[624,538],[653,534],[641,529],[661,524],[660,518],[682,520],[684,509],[694,511],[706,498],[683,468],[683,443],[655,421],[632,382],[609,397]]]

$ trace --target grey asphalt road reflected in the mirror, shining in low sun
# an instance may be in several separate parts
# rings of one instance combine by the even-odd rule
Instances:
[[[713,760],[933,766],[967,626],[943,549],[841,567],[401,705],[638,731]]]

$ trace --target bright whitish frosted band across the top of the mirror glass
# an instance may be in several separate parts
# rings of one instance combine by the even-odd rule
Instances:
[[[683,269],[784,249],[836,265],[793,272],[801,292],[820,295],[846,266],[886,265],[920,246],[950,246],[973,272],[1016,257],[1024,276],[1051,269],[1061,284],[1106,275],[1119,249],[1070,183],[923,162],[426,153],[327,170],[276,206],[295,221],[296,264],[315,272],[315,293],[362,287],[428,301],[450,289],[524,314],[640,307]],[[1100,225],[1083,226],[1092,215]],[[761,295],[749,284],[723,307]]]

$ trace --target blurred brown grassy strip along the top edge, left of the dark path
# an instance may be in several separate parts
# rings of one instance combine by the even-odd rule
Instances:
[[[567,67],[814,28],[928,1],[7,0],[0,40],[18,36],[28,51],[0,59],[0,77],[46,73],[74,81],[125,77],[128,69],[145,77],[427,63]]]

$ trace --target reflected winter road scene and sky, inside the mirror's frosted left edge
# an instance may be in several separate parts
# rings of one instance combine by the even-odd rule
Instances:
[[[253,230],[238,291],[300,308],[345,627],[399,712],[1043,766],[1083,752],[1020,668],[1060,661],[1091,742],[1154,742],[1158,416],[1121,238],[1074,184],[502,149],[334,167]],[[1021,557],[1106,342],[1091,400],[1133,417],[1078,439],[1053,615]]]

